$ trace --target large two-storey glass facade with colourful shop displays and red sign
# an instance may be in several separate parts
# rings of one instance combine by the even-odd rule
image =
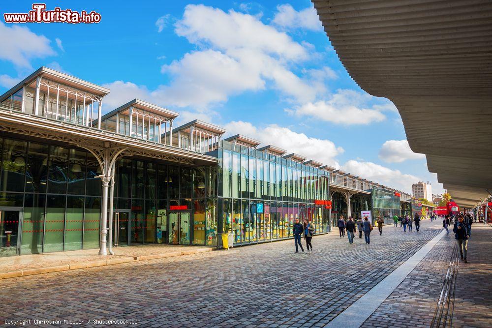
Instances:
[[[292,238],[296,218],[330,231],[329,173],[265,151],[221,141],[218,158],[219,231],[235,244]]]

